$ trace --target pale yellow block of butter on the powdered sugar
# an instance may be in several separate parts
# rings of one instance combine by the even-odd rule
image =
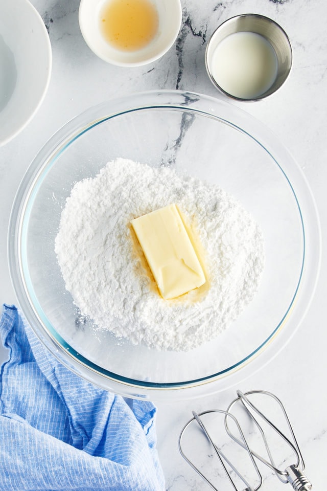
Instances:
[[[131,220],[159,292],[179,297],[205,283],[190,235],[176,205]]]

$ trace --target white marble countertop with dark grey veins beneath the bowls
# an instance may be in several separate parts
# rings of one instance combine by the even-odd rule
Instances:
[[[241,13],[260,13],[281,24],[290,37],[294,62],[291,76],[275,95],[256,103],[233,103],[270,127],[297,160],[313,191],[324,240],[327,232],[327,7],[324,0],[182,0],[183,24],[176,45],[160,60],[133,69],[108,65],[89,50],[78,25],[79,0],[32,0],[32,4],[49,31],[53,70],[48,93],[36,116],[20,135],[0,148],[2,303],[17,303],[7,266],[7,228],[16,189],[38,149],[69,119],[115,96],[179,88],[223,98],[205,72],[206,42],[223,20]],[[325,483],[323,457],[327,452],[327,331],[323,310],[326,282],[327,265],[322,254],[317,290],[296,336],[240,387],[243,391],[269,390],[283,400],[313,489],[322,489]],[[192,401],[157,404],[158,451],[170,491],[208,489],[179,455],[178,435],[191,417],[192,409],[224,409],[235,395],[235,389]],[[285,485],[270,476],[263,488],[269,491],[282,486]]]

